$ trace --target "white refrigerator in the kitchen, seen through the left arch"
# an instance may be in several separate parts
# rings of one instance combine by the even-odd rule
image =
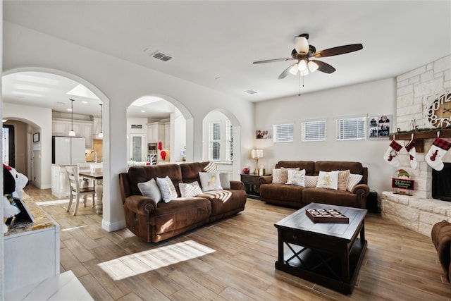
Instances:
[[[51,163],[73,165],[84,163],[86,141],[82,137],[51,137]]]

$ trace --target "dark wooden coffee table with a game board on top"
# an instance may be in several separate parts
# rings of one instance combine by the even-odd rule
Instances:
[[[306,209],[336,209],[349,223],[314,223]],[[311,203],[274,224],[276,269],[350,294],[366,250],[366,209]],[[359,238],[357,238],[359,236]]]

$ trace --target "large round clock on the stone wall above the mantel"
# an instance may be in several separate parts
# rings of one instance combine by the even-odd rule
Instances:
[[[436,97],[426,111],[429,123],[440,128],[451,125],[451,92]]]

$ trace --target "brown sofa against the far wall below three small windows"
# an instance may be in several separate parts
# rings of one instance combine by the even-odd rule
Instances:
[[[272,183],[273,176],[261,176],[259,178],[261,201],[295,208],[316,202],[366,209],[366,197],[369,195],[368,168],[363,167],[359,162],[279,161],[275,168],[281,167],[305,169],[306,176],[318,176],[319,171],[346,171],[349,169],[350,173],[361,174],[363,177],[352,191],[347,191]]]

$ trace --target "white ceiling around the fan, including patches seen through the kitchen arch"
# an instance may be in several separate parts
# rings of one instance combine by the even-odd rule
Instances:
[[[298,77],[277,79],[292,61],[252,62],[289,58],[304,32],[317,51],[364,48],[319,59],[337,70],[307,75],[302,93],[393,78],[451,54],[451,1],[4,1],[4,20],[251,102],[298,93]],[[4,84],[4,101],[18,101],[14,80]],[[68,102],[70,85],[53,96]]]

